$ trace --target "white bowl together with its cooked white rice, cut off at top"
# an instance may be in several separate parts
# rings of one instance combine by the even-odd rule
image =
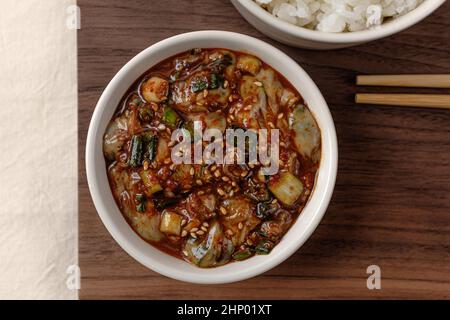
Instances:
[[[445,0],[231,0],[267,36],[296,47],[336,49],[390,36]]]

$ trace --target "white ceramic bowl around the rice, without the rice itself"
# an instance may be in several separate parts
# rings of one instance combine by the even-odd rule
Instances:
[[[309,49],[337,49],[381,39],[418,23],[445,0],[425,0],[411,12],[383,23],[379,28],[346,33],[328,33],[292,25],[261,8],[253,0],[231,0],[240,14],[256,29],[282,43]]]

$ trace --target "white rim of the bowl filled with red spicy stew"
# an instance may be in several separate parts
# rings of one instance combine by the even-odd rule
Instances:
[[[210,41],[211,39],[214,40],[222,40],[223,42],[234,42],[239,41],[239,43],[245,43],[249,46],[255,46],[258,47],[258,49],[261,49],[262,52],[266,52],[266,55],[274,55],[278,60],[282,60],[289,64],[289,68],[293,68],[293,72],[298,75],[298,79],[301,79],[302,82],[306,83],[309,87],[308,91],[310,92],[309,95],[314,95],[315,100],[319,101],[317,106],[309,106],[309,109],[317,109],[317,111],[320,111],[320,119],[316,116],[316,120],[318,121],[319,125],[321,126],[322,130],[322,150],[326,150],[326,152],[323,152],[324,154],[327,154],[327,160],[322,160],[321,166],[319,168],[318,177],[316,178],[316,187],[319,188],[319,179],[323,182],[320,182],[320,188],[323,189],[323,192],[313,192],[308,203],[306,204],[305,208],[302,211],[302,214],[309,210],[308,212],[311,212],[311,218],[309,220],[305,220],[306,227],[304,230],[302,229],[302,232],[300,235],[294,235],[291,230],[294,229],[294,226],[296,226],[299,223],[300,217],[297,219],[297,221],[291,226],[288,233],[284,236],[283,239],[287,238],[287,235],[290,234],[291,237],[296,237],[294,242],[288,242],[287,240],[283,242],[280,242],[275,249],[267,256],[257,256],[252,257],[251,259],[242,261],[242,262],[236,262],[227,264],[225,266],[212,268],[212,269],[201,269],[195,266],[190,266],[190,264],[179,260],[177,258],[170,257],[169,255],[165,253],[161,253],[159,250],[155,249],[153,246],[149,245],[148,243],[144,242],[137,234],[132,230],[131,227],[128,226],[129,231],[131,231],[133,235],[131,235],[130,232],[127,231],[127,234],[125,235],[123,231],[119,230],[119,226],[117,226],[112,219],[112,215],[108,210],[108,204],[106,202],[106,199],[103,198],[101,195],[102,188],[108,188],[109,191],[109,185],[107,186],[101,186],[99,184],[99,181],[97,181],[96,174],[98,170],[96,170],[96,154],[101,152],[101,143],[100,148],[97,145],[99,143],[98,139],[103,137],[103,132],[99,133],[99,127],[100,127],[100,120],[102,114],[105,112],[105,110],[108,108],[107,100],[109,99],[112,92],[116,89],[117,86],[119,86],[120,82],[123,80],[124,76],[127,75],[128,70],[133,68],[134,66],[138,65],[139,63],[142,63],[143,60],[145,60],[146,57],[154,54],[158,51],[164,51],[166,47],[175,46],[182,43],[189,43],[190,41],[195,40],[203,40],[203,41]],[[217,47],[212,45],[211,47]],[[186,49],[188,50],[188,49]],[[245,49],[244,49],[245,50]],[[244,51],[242,50],[242,51]],[[180,51],[182,52],[182,51]],[[169,57],[169,56],[167,56]],[[167,58],[166,57],[166,58]],[[149,66],[150,67],[150,66]],[[148,67],[148,68],[149,68]],[[147,69],[148,69],[147,68]],[[141,74],[143,74],[146,70],[142,70]],[[135,79],[134,79],[135,80]],[[291,79],[288,79],[292,82]],[[300,80],[299,80],[300,81]],[[131,85],[131,84],[130,84]],[[298,88],[297,88],[298,89]],[[302,94],[302,90],[299,90]],[[305,92],[306,90],[304,90]],[[122,94],[123,95],[123,94]],[[304,94],[302,94],[304,96]],[[114,106],[115,108],[115,106]],[[314,111],[314,110],[311,110]],[[320,121],[319,121],[320,120]],[[100,136],[99,136],[100,135]],[[101,140],[101,139],[100,139]],[[103,157],[103,154],[101,154],[101,157]],[[311,236],[313,231],[316,229],[318,224],[320,223],[323,215],[325,214],[325,211],[328,207],[328,204],[331,200],[334,185],[336,181],[336,175],[337,175],[337,163],[338,163],[338,146],[337,146],[337,138],[336,138],[336,131],[334,127],[334,122],[331,116],[331,113],[328,109],[328,106],[320,93],[319,89],[315,85],[315,83],[312,81],[312,79],[307,75],[307,73],[289,56],[287,56],[284,52],[280,51],[279,49],[273,47],[272,45],[263,42],[261,40],[258,40],[256,38],[239,34],[239,33],[233,33],[233,32],[227,32],[227,31],[217,31],[217,30],[208,30],[208,31],[196,31],[196,32],[190,32],[190,33],[184,33],[179,34],[173,37],[170,37],[168,39],[162,40],[147,49],[143,50],[139,54],[137,54],[134,58],[132,58],[125,66],[122,67],[122,69],[119,70],[119,72],[113,77],[113,79],[110,81],[110,83],[107,85],[105,90],[103,91],[92,116],[91,123],[89,125],[89,131],[87,135],[87,141],[86,141],[86,174],[87,174],[87,181],[89,185],[89,190],[91,192],[92,200],[94,202],[94,205],[97,209],[97,213],[100,216],[103,224],[105,225],[106,229],[109,231],[111,236],[114,238],[114,240],[135,260],[143,264],[144,266],[148,267],[149,269],[152,269],[162,275],[165,275],[167,277],[185,281],[185,282],[191,282],[191,283],[198,283],[198,284],[222,284],[222,283],[231,283],[236,281],[245,280],[248,278],[255,277],[263,272],[266,272],[267,270],[275,267],[276,265],[280,264],[284,260],[286,260],[288,257],[290,257],[294,252],[296,252],[303,243]],[[100,173],[99,173],[100,174]],[[104,170],[104,175],[106,176],[106,170]],[[111,193],[109,191],[109,193]],[[109,197],[112,199],[112,194]],[[316,203],[316,208],[312,208],[312,199],[315,199],[314,202]],[[114,202],[115,205],[115,202]],[[116,205],[115,205],[116,206]],[[310,207],[310,208],[309,208]],[[307,209],[309,208],[309,209]],[[119,209],[116,206],[116,211],[120,213]],[[121,213],[120,213],[121,215]],[[123,218],[123,216],[122,216]],[[306,218],[305,218],[306,219]],[[125,219],[123,219],[124,223]],[[130,239],[130,237],[134,237],[133,239]],[[164,256],[169,256],[170,258],[174,259],[174,263],[183,263],[183,267],[185,265],[188,265],[191,268],[189,271],[180,270],[177,269],[174,266],[168,266],[167,264],[161,263],[157,259],[153,259],[151,256],[143,254],[142,251],[136,246],[136,241],[141,241],[146,245],[146,248],[148,250],[156,250],[159,252],[158,255],[162,254]],[[283,244],[283,245],[282,245]],[[152,249],[150,249],[152,248]],[[155,252],[156,252],[155,251]],[[276,252],[275,252],[276,251]],[[155,253],[157,254],[157,253]],[[170,259],[165,257],[166,259]],[[176,262],[176,261],[178,262]],[[248,261],[253,261],[248,263]],[[239,268],[239,270],[234,270],[236,268],[229,267],[230,265],[240,264],[243,267]],[[244,265],[246,266],[244,268]],[[230,272],[232,271],[232,272]]]

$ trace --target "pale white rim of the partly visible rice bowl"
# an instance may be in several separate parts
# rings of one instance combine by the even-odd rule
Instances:
[[[417,8],[398,18],[392,19],[381,26],[361,31],[353,32],[323,32],[311,30],[304,27],[293,25],[273,16],[270,12],[261,8],[253,0],[232,0],[239,2],[254,16],[271,25],[280,32],[287,33],[293,37],[299,37],[316,42],[345,44],[356,42],[369,42],[372,40],[384,38],[394,33],[400,32],[411,27],[422,19],[430,15],[434,10],[440,7],[446,0],[425,0]]]

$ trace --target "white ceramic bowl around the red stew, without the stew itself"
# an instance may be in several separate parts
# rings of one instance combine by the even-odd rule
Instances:
[[[301,93],[322,131],[322,160],[314,191],[303,212],[267,256],[212,269],[200,269],[165,254],[144,242],[123,218],[111,193],[102,153],[102,138],[120,99],[131,84],[150,67],[192,48],[228,48],[252,53],[281,72]],[[165,276],[194,283],[228,283],[254,277],[281,263],[308,239],[330,201],[337,171],[337,141],[333,119],[319,89],[286,54],[255,38],[223,31],[181,34],[145,49],[111,80],[97,103],[86,144],[89,189],[98,214],[119,245],[133,258]]]

